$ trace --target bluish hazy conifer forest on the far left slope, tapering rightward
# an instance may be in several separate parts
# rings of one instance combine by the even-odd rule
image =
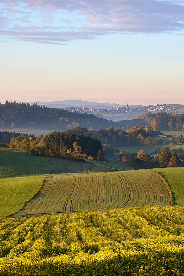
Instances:
[[[1,127],[20,127],[26,123],[34,122],[35,124],[52,124],[59,126],[61,130],[82,126],[98,130],[99,128],[114,127],[126,128],[127,125],[136,125],[145,123],[144,119],[123,120],[114,122],[103,118],[96,117],[93,114],[70,112],[59,108],[41,107],[37,104],[8,102],[0,103],[0,126]]]

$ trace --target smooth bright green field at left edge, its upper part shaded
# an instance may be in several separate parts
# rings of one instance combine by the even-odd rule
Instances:
[[[50,157],[0,151],[0,215],[16,213],[41,187]]]

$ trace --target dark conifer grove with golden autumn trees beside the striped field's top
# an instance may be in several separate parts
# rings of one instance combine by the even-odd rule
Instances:
[[[102,160],[105,151],[97,138],[67,132],[48,133],[42,138],[28,137],[24,134],[13,137],[11,149],[31,152],[34,155],[49,155],[84,162],[84,158]]]

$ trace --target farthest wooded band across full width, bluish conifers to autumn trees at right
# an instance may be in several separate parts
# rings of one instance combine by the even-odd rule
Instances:
[[[81,126],[87,129],[107,129],[111,126],[119,126],[127,129],[127,126],[138,128],[139,126],[150,126],[154,130],[183,131],[184,116],[178,116],[175,112],[147,113],[136,117],[133,120],[112,120],[96,117],[93,114],[71,112],[58,108],[41,107],[37,104],[8,102],[0,103],[0,126],[18,127],[26,123],[50,124],[61,129],[71,129]]]

